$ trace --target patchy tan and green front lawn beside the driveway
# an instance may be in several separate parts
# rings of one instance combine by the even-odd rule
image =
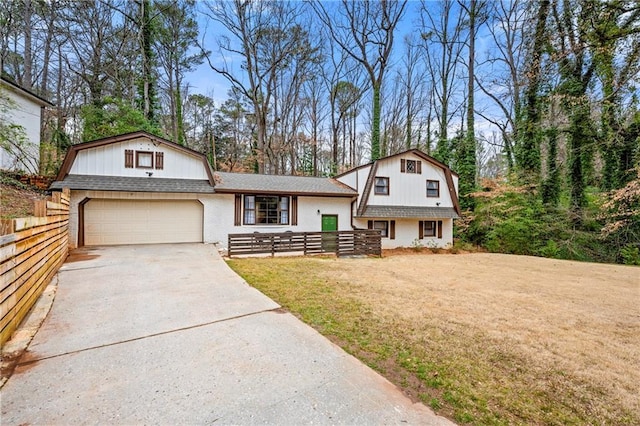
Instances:
[[[640,424],[640,268],[486,253],[229,264],[459,423]]]

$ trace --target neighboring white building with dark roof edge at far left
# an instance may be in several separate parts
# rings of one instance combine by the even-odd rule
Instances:
[[[4,124],[22,127],[26,136],[25,141],[10,140],[7,141],[8,146],[0,146],[0,169],[37,174],[40,165],[43,110],[53,105],[3,78],[0,78],[0,97],[2,117],[8,120],[8,123]]]

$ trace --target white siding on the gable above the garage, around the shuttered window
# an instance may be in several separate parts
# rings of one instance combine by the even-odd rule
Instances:
[[[124,167],[124,152],[126,149],[134,152],[133,168]],[[155,167],[153,169],[136,168],[136,151],[164,153],[163,169],[158,170]],[[208,179],[205,165],[199,157],[178,151],[162,143],[156,146],[152,141],[144,137],[83,149],[78,152],[69,174],[146,177],[147,172],[152,172],[154,177],[160,178]]]

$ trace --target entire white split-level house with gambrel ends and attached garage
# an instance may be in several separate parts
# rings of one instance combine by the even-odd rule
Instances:
[[[440,188],[446,188],[444,182],[450,180],[451,187],[457,188],[457,177],[448,168],[436,167],[439,163],[426,160],[430,157],[419,151],[403,155],[405,165],[413,164],[407,161],[425,163],[421,174],[412,178],[438,179],[443,182]],[[338,179],[213,172],[204,155],[134,132],[72,146],[51,189],[71,190],[72,247],[177,242],[226,247],[229,234],[378,228],[383,218],[387,222],[385,248],[411,245],[420,220],[436,223],[436,235],[424,236],[425,243],[433,238],[433,245],[451,244],[456,189],[452,198],[442,194],[437,200],[412,200],[424,195],[423,191],[416,185],[400,189],[407,173],[394,174],[395,160],[391,159],[396,157],[400,164],[400,157],[388,157],[388,162],[378,160]],[[367,184],[372,167],[384,172],[390,189],[397,191],[397,196],[386,199],[392,203],[375,201],[375,185]],[[367,195],[367,188],[373,192]],[[367,210],[386,206],[397,213],[397,202],[424,207],[420,213],[425,215],[390,218],[380,212],[371,216]],[[429,229],[422,222],[421,226]],[[410,227],[416,234],[413,238]]]

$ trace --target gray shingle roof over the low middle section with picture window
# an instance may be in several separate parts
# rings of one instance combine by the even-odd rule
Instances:
[[[216,172],[216,192],[256,192],[353,197],[357,192],[331,178]]]

